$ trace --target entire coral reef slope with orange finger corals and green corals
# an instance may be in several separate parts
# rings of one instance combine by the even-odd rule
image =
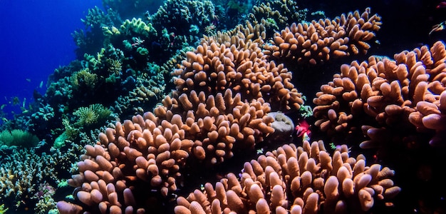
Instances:
[[[167,0],[128,19],[121,1],[90,9],[73,33],[78,59],[2,128],[0,213],[385,213],[424,202],[430,193],[404,195],[414,185],[398,173],[442,185],[430,172],[446,141],[445,44],[368,56],[381,28],[370,8],[311,21],[295,1],[254,2]],[[299,91],[297,71],[344,59],[319,91]]]

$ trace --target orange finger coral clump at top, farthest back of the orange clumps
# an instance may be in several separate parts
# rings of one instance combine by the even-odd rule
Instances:
[[[321,19],[309,24],[291,24],[276,33],[265,54],[271,59],[293,63],[321,63],[331,58],[366,54],[367,42],[380,29],[380,16],[370,14],[370,8],[342,14],[334,20]]]

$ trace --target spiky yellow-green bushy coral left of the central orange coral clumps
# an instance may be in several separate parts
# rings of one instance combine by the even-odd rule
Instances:
[[[78,120],[75,123],[76,126],[90,127],[105,123],[105,121],[110,118],[111,113],[112,111],[110,111],[110,109],[105,108],[99,103],[95,103],[88,107],[78,108],[78,110],[73,112],[73,115],[78,117]]]

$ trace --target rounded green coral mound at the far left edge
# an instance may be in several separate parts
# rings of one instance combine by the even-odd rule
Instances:
[[[20,129],[5,130],[0,133],[0,145],[33,147],[37,146],[38,142],[37,136]]]

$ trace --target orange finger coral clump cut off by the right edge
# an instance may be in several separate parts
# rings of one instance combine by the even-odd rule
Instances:
[[[434,132],[430,144],[444,145],[445,44],[437,41],[430,49],[422,46],[394,58],[370,56],[368,61],[341,66],[341,73],[321,86],[313,100],[316,126],[341,133],[361,128],[355,127],[355,121],[361,120],[367,125],[362,126],[363,132],[370,138],[361,143],[362,148],[382,145],[383,133],[392,135],[386,131],[392,128],[404,136],[415,130]]]

